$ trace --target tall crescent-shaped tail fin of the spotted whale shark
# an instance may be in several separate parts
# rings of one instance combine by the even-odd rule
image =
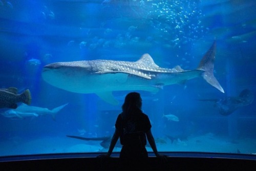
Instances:
[[[204,71],[202,77],[209,83],[211,86],[215,87],[222,93],[224,93],[223,88],[220,83],[214,76],[214,61],[215,61],[215,52],[216,52],[216,41],[211,45],[210,49],[206,52],[204,57],[199,63],[198,70]]]

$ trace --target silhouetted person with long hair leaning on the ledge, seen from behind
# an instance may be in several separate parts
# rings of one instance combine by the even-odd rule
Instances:
[[[145,147],[147,139],[156,157],[163,161],[167,160],[165,155],[158,153],[155,139],[151,132],[152,125],[150,119],[142,112],[141,108],[142,99],[139,93],[131,92],[125,96],[122,113],[118,115],[115,123],[116,129],[109,151],[97,157],[110,157],[118,138],[120,138],[122,148],[119,158],[123,168],[130,168],[133,165],[143,167],[148,159],[148,153]]]

